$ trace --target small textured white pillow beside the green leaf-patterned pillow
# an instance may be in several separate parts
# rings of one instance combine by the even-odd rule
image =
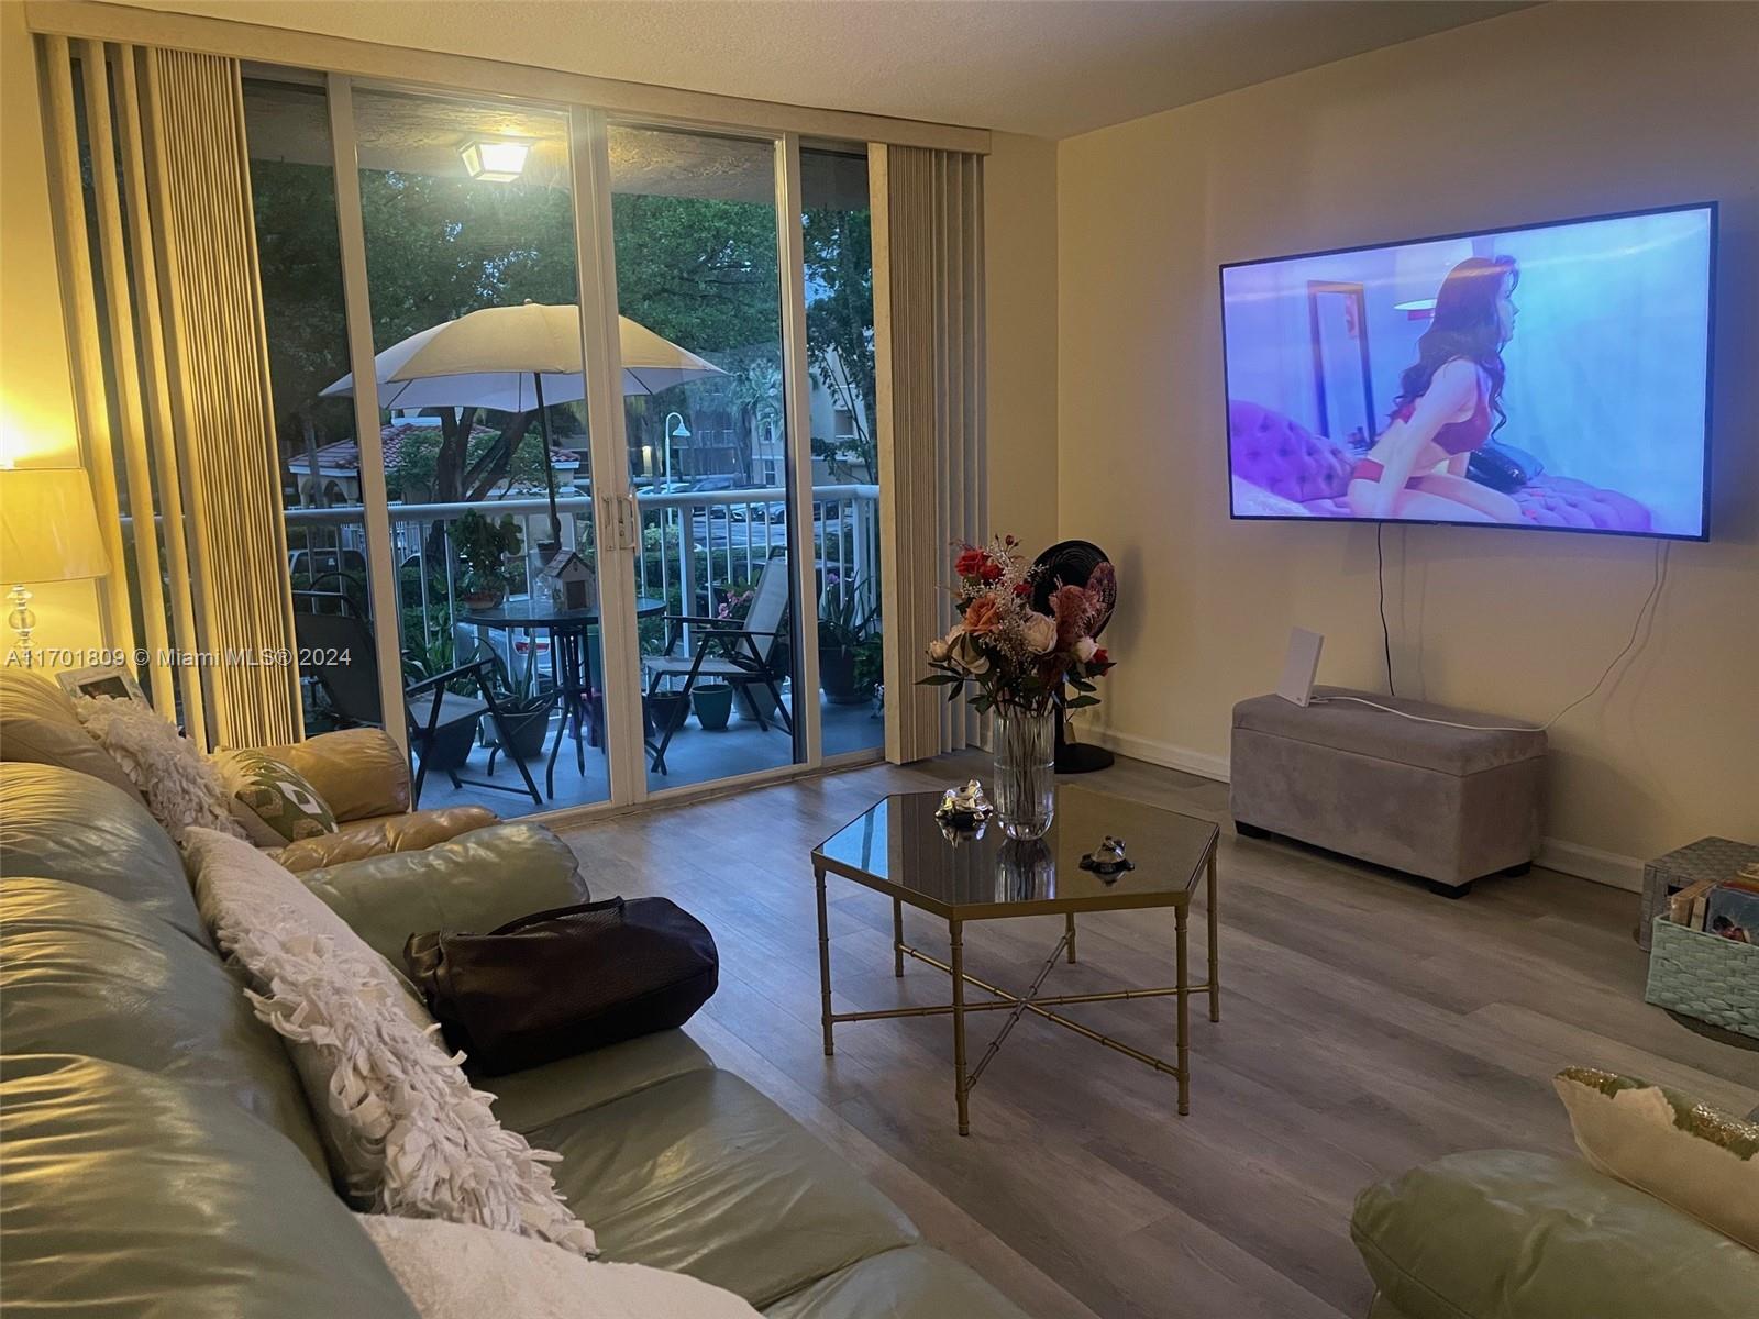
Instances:
[[[79,696],[74,711],[91,740],[109,751],[141,790],[146,809],[176,842],[183,842],[188,828],[245,837],[232,820],[220,770],[169,719],[150,705],[116,696]]]

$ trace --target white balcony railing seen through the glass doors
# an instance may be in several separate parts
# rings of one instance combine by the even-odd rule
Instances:
[[[595,510],[589,494],[556,499],[563,545],[596,559]],[[776,489],[637,492],[642,540],[635,566],[640,596],[667,601],[667,612],[712,616],[742,584],[755,584],[763,565],[788,547],[786,499]],[[452,547],[452,522],[466,512],[512,515],[528,550],[549,538],[544,496],[477,503],[394,503],[390,540],[398,563],[403,645],[415,649],[454,630],[461,566]],[[343,594],[366,612],[366,524],[361,505],[287,510],[288,570],[296,591]],[[843,603],[858,589],[876,594],[880,566],[880,487],[864,484],[813,487],[814,586],[821,600]],[[531,589],[531,554],[508,565],[510,591]],[[642,645],[663,644],[663,623],[646,619]]]

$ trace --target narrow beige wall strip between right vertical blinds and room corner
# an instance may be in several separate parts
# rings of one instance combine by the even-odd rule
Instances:
[[[983,162],[989,515],[1057,538],[1057,144],[994,134]]]

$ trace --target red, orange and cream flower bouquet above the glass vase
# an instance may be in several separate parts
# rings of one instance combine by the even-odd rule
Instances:
[[[978,711],[1043,714],[1064,682],[1075,691],[1066,709],[1098,705],[1092,679],[1110,670],[1112,660],[1092,633],[1117,598],[1112,565],[1101,563],[1087,586],[1052,589],[1050,612],[1040,614],[1033,607],[1040,570],[1020,556],[1018,543],[996,536],[989,545],[960,545],[953,561],[959,623],[929,642],[929,667],[936,672],[922,682],[955,691],[974,682]]]

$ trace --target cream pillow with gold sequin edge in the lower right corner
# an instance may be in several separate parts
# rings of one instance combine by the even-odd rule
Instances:
[[[1759,1122],[1597,1068],[1551,1083],[1594,1168],[1759,1250]]]

